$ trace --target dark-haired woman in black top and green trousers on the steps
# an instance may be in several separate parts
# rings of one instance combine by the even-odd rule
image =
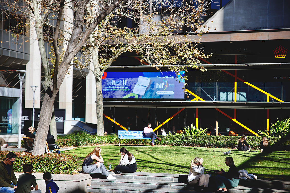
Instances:
[[[235,163],[233,161],[232,157],[227,157],[226,158],[226,165],[230,166],[229,171],[225,172],[223,169],[221,169],[218,174],[215,177],[215,184],[218,188],[218,192],[223,192],[223,193],[228,193],[229,191],[227,188],[235,188],[239,185],[239,172],[238,169],[235,167]]]

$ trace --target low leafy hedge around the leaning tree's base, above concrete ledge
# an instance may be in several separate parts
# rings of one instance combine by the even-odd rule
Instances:
[[[0,160],[5,160],[9,151],[0,151]],[[29,152],[13,152],[17,155],[13,163],[14,172],[23,172],[22,167],[30,163],[34,168],[33,173],[50,172],[52,174],[76,174],[77,156],[68,154],[46,153],[44,155],[32,155]]]

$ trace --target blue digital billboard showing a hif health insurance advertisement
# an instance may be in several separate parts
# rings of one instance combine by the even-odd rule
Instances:
[[[179,79],[175,72],[105,72],[103,98],[184,99],[184,79]]]

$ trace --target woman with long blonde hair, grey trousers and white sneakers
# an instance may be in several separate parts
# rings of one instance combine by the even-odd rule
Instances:
[[[104,165],[104,159],[101,156],[102,149],[100,147],[95,147],[95,149],[90,152],[83,163],[83,172],[85,174],[102,174],[107,177],[108,180],[115,180],[116,178],[109,174],[108,170]],[[96,163],[93,161],[96,160]]]

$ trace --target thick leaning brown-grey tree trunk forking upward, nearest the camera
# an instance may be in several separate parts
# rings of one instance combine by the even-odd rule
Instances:
[[[64,0],[62,0],[64,1]],[[57,81],[54,82],[54,88],[52,88],[52,84],[48,87],[46,94],[44,95],[44,100],[41,106],[40,117],[39,117],[39,124],[38,129],[35,137],[34,148],[32,151],[32,155],[43,155],[44,148],[45,148],[45,141],[48,132],[48,126],[50,123],[51,115],[52,115],[52,108],[53,103],[55,100],[55,96],[52,94],[52,90],[59,90],[61,83],[64,80],[64,77],[70,67],[70,63],[75,57],[75,55],[80,51],[80,49],[85,45],[86,41],[88,40],[90,34],[94,31],[95,27],[99,25],[99,23],[110,13],[112,12],[121,2],[122,0],[116,0],[112,2],[98,17],[95,21],[88,26],[88,29],[82,34],[82,38],[80,38],[81,33],[83,31],[83,23],[84,23],[84,10],[86,9],[86,4],[90,0],[79,0],[75,7],[75,25],[73,29],[73,33],[70,37],[68,42],[68,47],[66,49],[66,53],[64,58],[59,65],[57,73]],[[62,16],[62,11],[60,9],[58,14],[58,21],[59,18]],[[55,74],[54,73],[54,74]],[[101,76],[100,76],[101,79]],[[51,90],[52,89],[52,90]]]

